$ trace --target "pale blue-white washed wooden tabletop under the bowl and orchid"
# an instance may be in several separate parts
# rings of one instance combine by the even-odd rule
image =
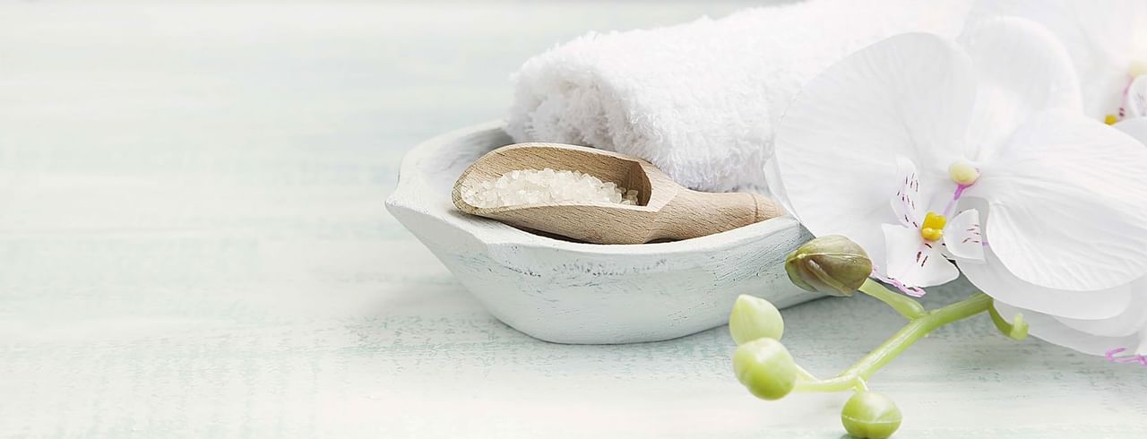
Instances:
[[[500,117],[530,54],[738,7],[0,6],[0,437],[840,437],[846,395],[754,400],[724,329],[502,326],[382,205],[403,151]],[[825,375],[900,323],[863,298],[785,316]],[[903,438],[1147,433],[1147,370],[986,319],[873,385]]]

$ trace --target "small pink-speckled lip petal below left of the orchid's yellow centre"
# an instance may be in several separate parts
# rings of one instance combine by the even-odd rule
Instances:
[[[924,242],[920,230],[883,225],[888,252],[888,277],[907,287],[939,285],[955,280],[960,271],[939,252],[939,244]]]

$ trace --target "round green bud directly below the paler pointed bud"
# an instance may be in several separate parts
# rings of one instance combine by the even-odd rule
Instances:
[[[796,362],[780,342],[757,338],[736,347],[733,373],[760,399],[781,399],[796,385]]]

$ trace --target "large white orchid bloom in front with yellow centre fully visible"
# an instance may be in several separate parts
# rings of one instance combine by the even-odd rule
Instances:
[[[879,277],[910,290],[954,277],[942,254],[998,300],[1072,321],[1118,318],[1147,291],[1147,149],[1082,113],[1070,57],[1033,23],[861,49],[805,86],[774,147],[770,189],[789,212],[856,241],[883,261]],[[888,202],[905,186],[902,157],[927,190],[908,221]],[[957,219],[983,221],[978,251],[953,251]],[[924,243],[936,252],[906,265]]]

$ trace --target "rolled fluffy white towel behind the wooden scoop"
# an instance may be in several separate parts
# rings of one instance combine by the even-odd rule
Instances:
[[[966,0],[807,0],[590,33],[514,75],[507,131],[518,142],[638,156],[694,189],[764,193],[773,127],[805,81],[896,33],[954,37],[969,8]]]

